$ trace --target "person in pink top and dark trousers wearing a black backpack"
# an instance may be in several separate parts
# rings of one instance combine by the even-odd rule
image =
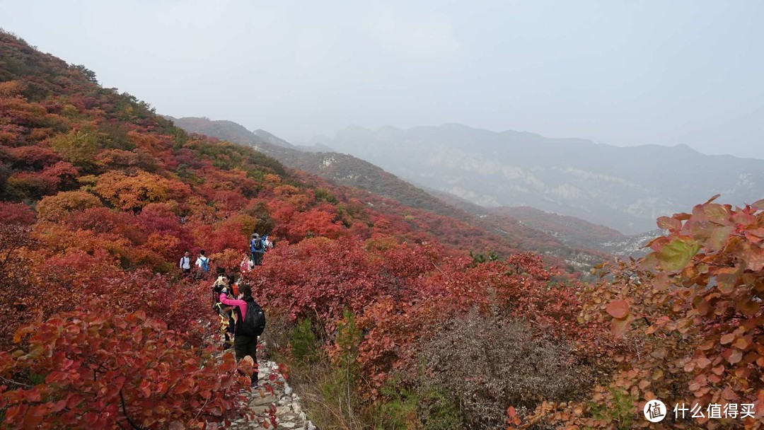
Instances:
[[[236,360],[246,356],[254,361],[251,385],[257,387],[257,336],[265,329],[265,312],[252,298],[252,287],[248,284],[239,286],[238,299],[229,299],[228,294],[220,294],[223,305],[234,306],[236,327],[234,329],[234,352]]]

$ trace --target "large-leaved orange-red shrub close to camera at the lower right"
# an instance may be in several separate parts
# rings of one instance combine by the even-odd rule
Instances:
[[[764,419],[764,200],[733,208],[713,202],[691,214],[658,220],[669,230],[639,261],[601,267],[610,275],[581,295],[584,322],[608,323],[610,382],[594,389],[594,403],[545,404],[522,427],[546,421],[609,428],[591,405],[611,405],[613,390],[686,406],[753,405],[755,416],[675,420],[668,425],[760,428]]]

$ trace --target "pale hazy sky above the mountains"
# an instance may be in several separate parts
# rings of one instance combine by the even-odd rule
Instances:
[[[173,116],[290,141],[459,122],[764,158],[764,2],[0,0],[0,27]]]

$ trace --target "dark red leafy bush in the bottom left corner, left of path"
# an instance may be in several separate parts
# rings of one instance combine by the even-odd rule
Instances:
[[[15,375],[0,395],[14,428],[189,428],[243,406],[232,354],[189,348],[144,312],[63,313],[16,338],[28,335],[28,348],[0,352],[0,374]]]

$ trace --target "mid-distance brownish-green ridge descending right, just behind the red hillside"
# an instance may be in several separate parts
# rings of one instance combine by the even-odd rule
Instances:
[[[558,221],[557,224],[548,222],[536,228],[522,217],[514,218],[501,211],[491,211],[447,193],[419,189],[372,163],[348,154],[298,150],[296,148],[299,146],[291,145],[267,131],[242,133],[241,129],[246,129],[239,124],[230,131],[220,129],[220,127],[225,128],[230,121],[210,121],[206,118],[169,119],[182,128],[186,128],[189,124],[193,125],[192,128],[186,128],[186,131],[207,130],[212,133],[209,134],[211,137],[234,137],[229,140],[254,147],[287,167],[316,174],[339,185],[364,189],[403,205],[465,221],[469,225],[497,234],[504,240],[512,241],[520,249],[561,257],[578,270],[587,270],[591,264],[601,261],[607,254],[623,254],[617,247],[602,246],[603,242],[626,244],[629,241],[628,237],[617,231],[591,225],[587,221],[576,220],[572,217],[565,217],[565,222],[572,223],[575,228],[563,226],[562,221]],[[215,122],[216,126],[203,124],[204,121]],[[292,147],[286,147],[287,144]],[[533,211],[533,209],[528,210]],[[549,214],[548,216],[554,218],[558,215]],[[535,214],[529,215],[529,218],[534,217],[539,218]],[[592,239],[593,232],[600,232],[600,236]],[[607,254],[604,254],[604,251]]]

